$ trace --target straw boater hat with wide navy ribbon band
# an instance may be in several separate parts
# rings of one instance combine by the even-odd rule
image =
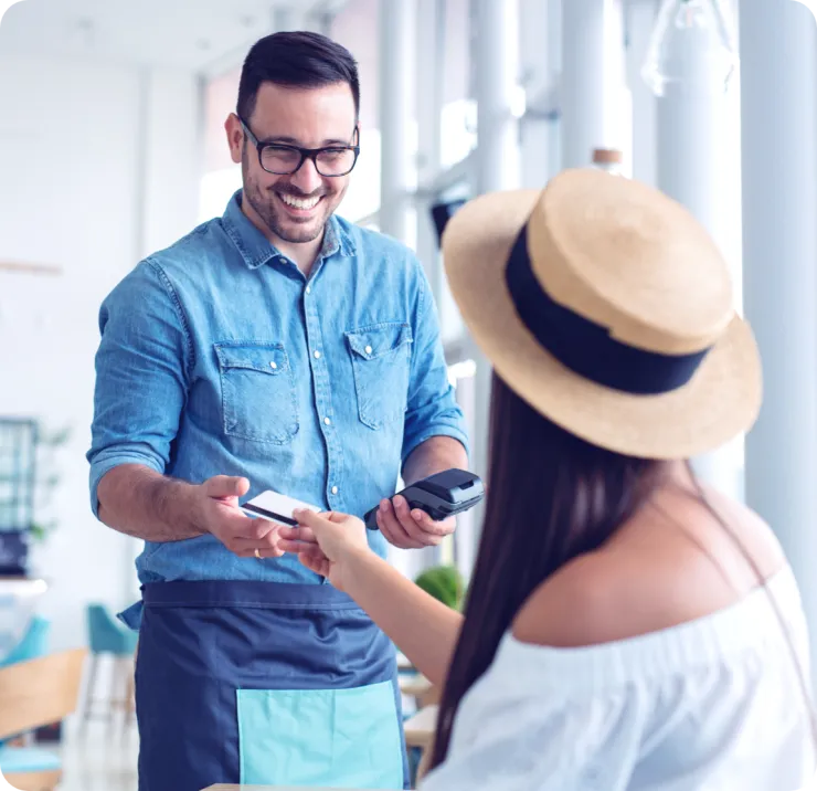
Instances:
[[[443,240],[454,298],[499,376],[602,447],[687,458],[747,430],[761,366],[726,264],[680,204],[566,170],[481,196]]]

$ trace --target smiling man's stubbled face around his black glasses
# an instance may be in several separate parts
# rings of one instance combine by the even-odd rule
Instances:
[[[261,144],[325,148],[356,143],[354,99],[346,83],[320,88],[264,83],[252,117],[244,120]],[[257,220],[284,242],[318,239],[346,194],[349,175],[321,176],[306,159],[296,173],[275,176],[261,167],[258,149],[237,117],[230,116],[226,129],[233,161],[242,166],[244,199]]]

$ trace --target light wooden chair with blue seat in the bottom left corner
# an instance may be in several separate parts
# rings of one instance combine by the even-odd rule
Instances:
[[[76,709],[85,648],[18,662],[0,669],[0,739],[59,723]],[[54,791],[59,755],[39,747],[0,747],[0,783],[14,791]]]

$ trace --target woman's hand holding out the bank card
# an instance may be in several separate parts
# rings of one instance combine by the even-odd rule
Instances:
[[[282,527],[278,548],[298,556],[304,566],[344,590],[349,560],[371,551],[365,525],[356,516],[329,511],[295,510],[297,527]]]

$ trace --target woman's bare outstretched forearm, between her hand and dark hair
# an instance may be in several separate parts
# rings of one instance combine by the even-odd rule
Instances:
[[[346,592],[432,684],[442,686],[463,616],[428,595],[374,552],[350,556]]]

